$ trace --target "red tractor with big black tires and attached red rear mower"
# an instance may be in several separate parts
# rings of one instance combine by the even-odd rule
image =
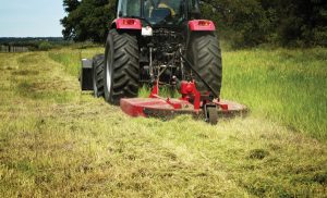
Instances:
[[[213,124],[217,110],[233,106],[219,99],[221,79],[216,27],[202,20],[199,0],[118,0],[105,54],[84,60],[82,70],[82,89],[132,116],[204,113]],[[149,99],[136,98],[144,84],[153,86]],[[161,98],[164,85],[182,97]]]

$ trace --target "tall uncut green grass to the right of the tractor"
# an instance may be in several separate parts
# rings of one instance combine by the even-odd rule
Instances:
[[[317,138],[327,138],[327,49],[223,53],[222,97]]]

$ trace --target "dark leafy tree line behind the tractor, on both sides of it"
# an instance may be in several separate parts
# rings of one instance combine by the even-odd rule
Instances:
[[[326,0],[202,0],[204,18],[215,21],[233,47],[327,46]],[[63,0],[65,39],[104,42],[116,0]]]

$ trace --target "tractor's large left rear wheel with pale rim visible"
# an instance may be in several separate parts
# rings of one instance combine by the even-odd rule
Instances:
[[[136,36],[109,32],[105,54],[105,99],[119,104],[121,98],[138,95],[140,63]]]

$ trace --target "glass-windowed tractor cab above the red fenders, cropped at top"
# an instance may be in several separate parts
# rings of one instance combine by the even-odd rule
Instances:
[[[142,18],[152,26],[179,26],[199,17],[198,0],[118,0],[117,16]]]

